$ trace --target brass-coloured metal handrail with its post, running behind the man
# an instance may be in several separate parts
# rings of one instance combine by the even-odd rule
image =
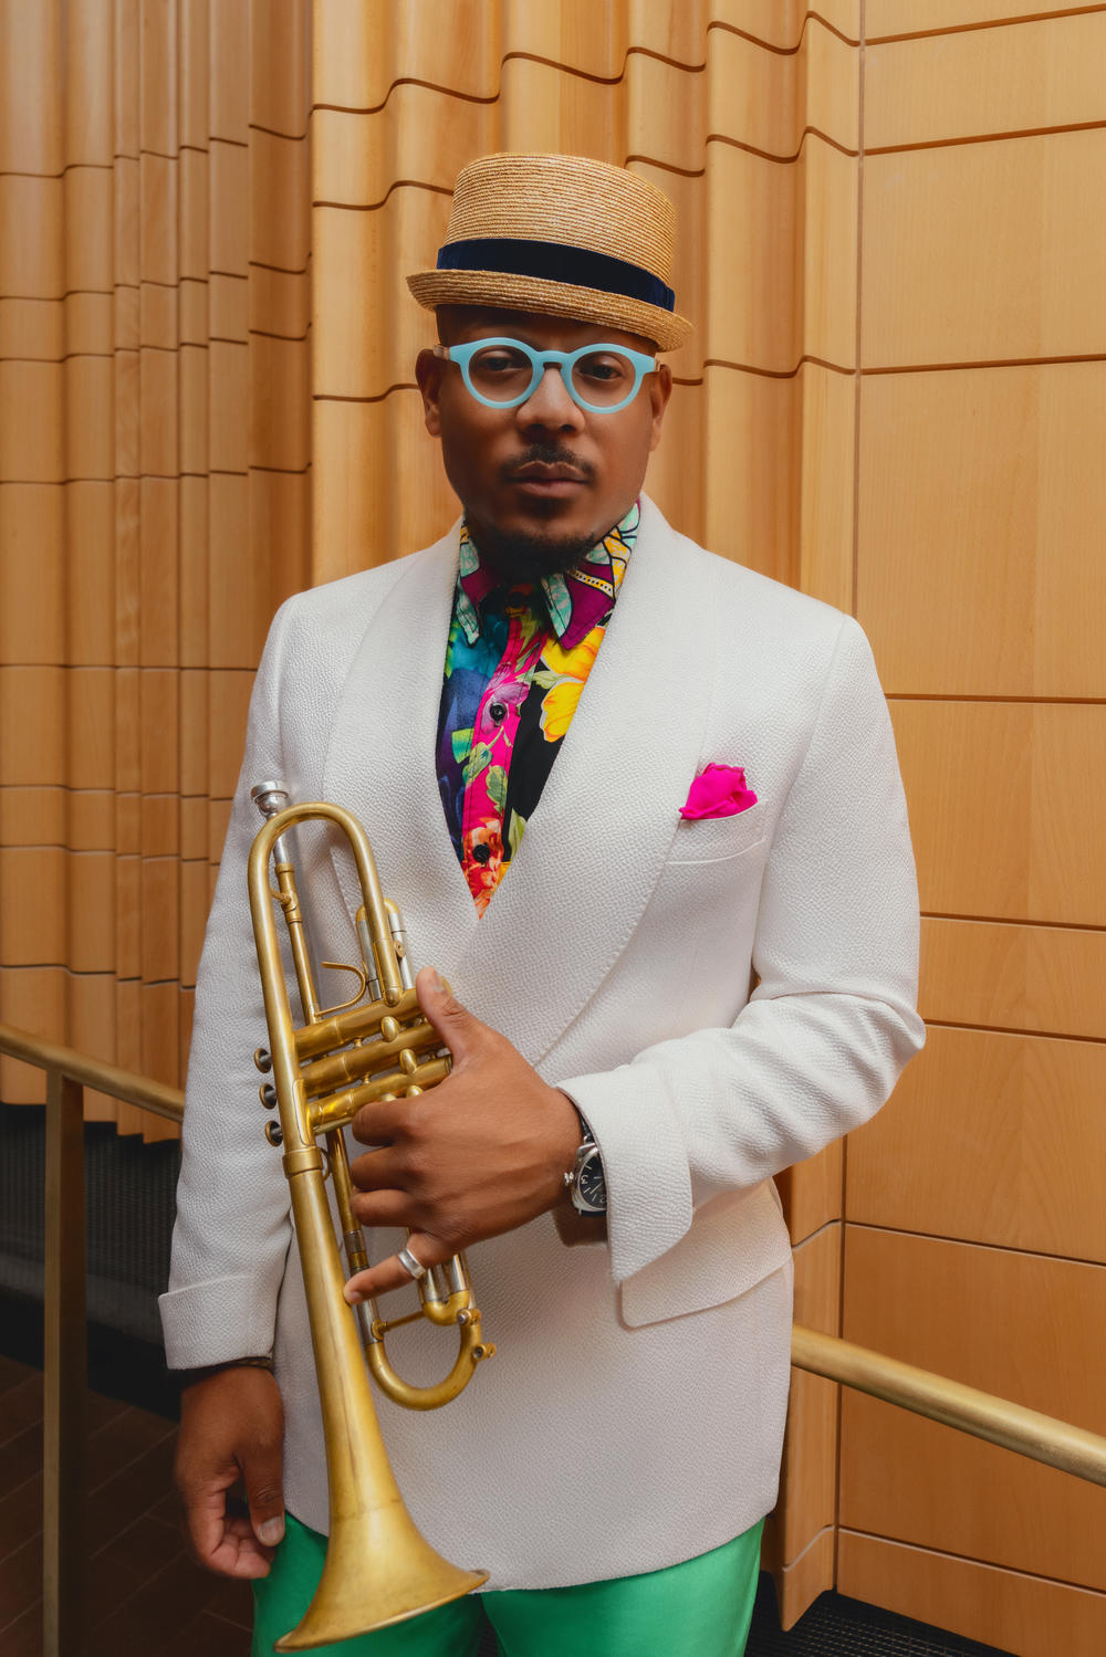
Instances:
[[[95,1087],[179,1122],[184,1097],[27,1031],[0,1024],[0,1054],[46,1072],[46,1284],[43,1362],[43,1657],[83,1650],[85,1566],[85,1190],[83,1090]],[[791,1362],[827,1380],[1106,1485],[1106,1438],[796,1324]],[[65,1503],[61,1491],[65,1490]]]

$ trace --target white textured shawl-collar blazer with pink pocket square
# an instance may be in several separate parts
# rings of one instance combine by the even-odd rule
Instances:
[[[380,1400],[429,1541],[489,1587],[542,1587],[691,1558],[771,1508],[791,1327],[771,1176],[864,1122],[920,1046],[917,891],[859,626],[643,502],[575,717],[479,920],[434,777],[456,568],[454,527],[274,621],[197,984],[161,1304],[171,1367],[274,1350],[287,1503],[325,1529],[300,1269],[252,1064],[249,790],[279,777],[363,820],[415,964],[564,1087],[602,1150],[609,1244],[565,1249],[542,1215],[473,1248],[497,1355],[443,1410]],[[711,761],[743,766],[758,804],[686,822]],[[302,832],[302,890],[320,954],[355,959],[360,896],[327,833]],[[390,1350],[415,1380],[454,1355],[426,1326]]]

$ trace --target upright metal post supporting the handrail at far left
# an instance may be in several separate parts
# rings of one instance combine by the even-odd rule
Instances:
[[[43,1650],[85,1649],[85,1089],[46,1084],[46,1278],[43,1357]]]

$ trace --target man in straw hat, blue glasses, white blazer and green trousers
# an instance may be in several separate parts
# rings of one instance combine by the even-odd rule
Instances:
[[[688,331],[673,240],[667,199],[622,169],[469,166],[438,270],[410,278],[438,312],[418,383],[463,524],[292,600],[265,648],[163,1302],[169,1362],[196,1372],[192,1543],[255,1579],[255,1652],[310,1599],[327,1524],[287,1188],[249,1104],[265,1036],[244,865],[267,777],[365,822],[454,1057],[353,1127],[375,1147],[358,1216],[410,1239],[378,1236],[347,1297],[469,1248],[499,1349],[444,1410],[381,1400],[416,1523],[491,1572],[512,1657],[745,1647],[789,1374],[771,1175],[876,1110],[920,1044],[917,898],[856,623],[640,494],[670,393],[657,351]],[[348,959],[342,857],[315,842],[302,875],[320,954]],[[433,1331],[405,1334],[398,1367],[448,1367]],[[249,1519],[226,1510],[239,1475]],[[342,1650],[473,1652],[478,1619],[464,1599]]]

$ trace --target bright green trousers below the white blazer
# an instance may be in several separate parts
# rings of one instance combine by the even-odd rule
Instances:
[[[643,1576],[579,1587],[469,1594],[318,1657],[476,1657],[486,1621],[501,1657],[741,1657],[753,1617],[763,1519],[713,1553]],[[254,1582],[252,1657],[300,1621],[327,1538],[287,1516],[272,1571]]]

